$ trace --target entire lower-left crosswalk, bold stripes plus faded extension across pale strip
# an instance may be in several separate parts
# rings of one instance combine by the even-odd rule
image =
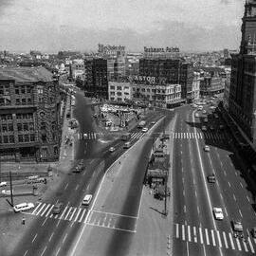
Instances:
[[[59,219],[70,222],[86,223],[91,226],[97,226],[107,229],[119,229],[127,232],[136,232],[137,217],[121,215],[117,213],[104,212],[99,210],[90,210],[65,206],[59,214],[53,214],[54,205],[40,202],[36,208],[23,212],[35,216]],[[86,218],[86,215],[88,217]]]

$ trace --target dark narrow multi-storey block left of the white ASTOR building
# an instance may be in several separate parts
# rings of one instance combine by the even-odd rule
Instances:
[[[101,58],[84,60],[84,95],[108,99],[107,61]]]

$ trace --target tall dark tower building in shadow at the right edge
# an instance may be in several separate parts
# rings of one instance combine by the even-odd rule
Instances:
[[[256,2],[247,1],[240,52],[231,54],[229,114],[256,146]]]

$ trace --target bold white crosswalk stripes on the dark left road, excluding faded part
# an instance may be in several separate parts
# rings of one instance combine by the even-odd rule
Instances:
[[[84,222],[86,216],[86,209],[84,208],[76,208],[65,206],[64,209],[59,214],[53,214],[54,205],[39,203],[36,208],[30,210],[28,212],[24,212],[31,215],[52,218],[52,219],[61,219],[73,222]]]

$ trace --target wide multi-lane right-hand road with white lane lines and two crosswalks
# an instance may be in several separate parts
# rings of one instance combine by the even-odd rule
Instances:
[[[206,115],[199,112],[195,118],[194,113],[190,106],[178,110],[173,135],[174,255],[252,255],[256,240],[235,239],[230,226],[231,220],[242,220],[247,235],[256,222],[252,195],[232,154],[229,133],[219,129],[219,118],[210,115],[204,123]],[[210,153],[204,151],[205,145]],[[208,183],[209,174],[215,174],[215,184]],[[224,220],[214,219],[213,207],[222,208]]]

